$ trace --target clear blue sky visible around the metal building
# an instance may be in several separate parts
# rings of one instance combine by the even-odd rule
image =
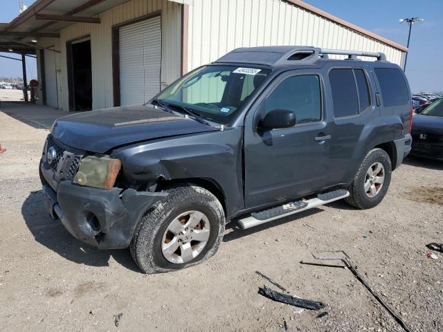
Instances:
[[[19,0],[1,0],[0,21],[9,22],[18,15]],[[26,5],[33,0],[24,0]],[[420,17],[413,25],[406,76],[413,92],[443,91],[443,0],[305,0],[336,17],[405,45],[408,25],[399,19]],[[0,53],[0,55],[5,55]],[[10,55],[10,54],[8,54]],[[12,55],[19,57],[17,55]],[[28,77],[36,77],[35,60],[27,58]],[[0,58],[0,77],[21,77],[21,62]]]

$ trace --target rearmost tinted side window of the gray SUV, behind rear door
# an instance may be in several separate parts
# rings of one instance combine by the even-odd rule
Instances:
[[[379,80],[383,106],[400,106],[409,104],[408,86],[403,74],[396,68],[374,68]]]

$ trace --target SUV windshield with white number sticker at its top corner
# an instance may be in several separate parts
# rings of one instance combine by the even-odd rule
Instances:
[[[203,66],[168,86],[154,101],[226,124],[269,73],[262,68]]]

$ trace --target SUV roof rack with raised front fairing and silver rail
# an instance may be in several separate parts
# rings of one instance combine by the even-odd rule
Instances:
[[[347,55],[347,59],[356,59],[357,56],[377,57],[379,61],[386,61],[384,53],[376,52],[333,50],[313,46],[262,46],[237,48],[218,59],[216,63],[239,62],[244,64],[266,64],[269,66],[314,64],[318,59],[328,59],[328,55]]]

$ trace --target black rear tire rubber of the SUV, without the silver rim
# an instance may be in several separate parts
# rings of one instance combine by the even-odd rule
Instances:
[[[381,163],[381,165],[383,165],[384,182],[379,192],[375,196],[369,197],[368,194],[366,194],[365,192],[364,185],[368,169],[374,163]],[[350,196],[345,199],[346,203],[362,210],[374,208],[374,206],[379,205],[384,196],[386,196],[386,192],[388,192],[391,174],[392,164],[386,151],[384,151],[383,149],[372,149],[365,156],[363,162],[361,163],[359,171],[354,178],[354,181],[352,181],[352,184],[348,188]]]

